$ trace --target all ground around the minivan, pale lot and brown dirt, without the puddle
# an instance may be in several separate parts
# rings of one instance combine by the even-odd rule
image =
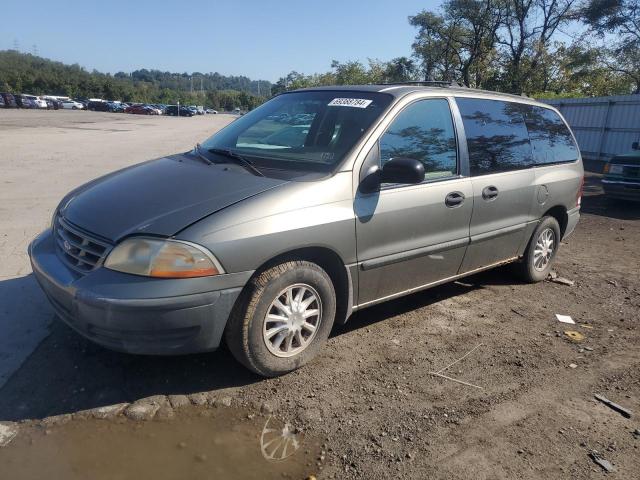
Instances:
[[[184,150],[227,120],[2,112],[0,374],[28,358],[0,389],[0,420],[207,393],[249,418],[273,410],[318,439],[324,454],[306,464],[318,478],[603,478],[593,450],[613,464],[613,478],[638,478],[640,205],[608,202],[594,175],[556,265],[572,286],[524,285],[502,268],[372,307],[336,329],[317,361],[282,378],[258,378],[225,350],[136,357],[92,345],[60,322],[47,330],[51,311],[24,250],[57,199],[99,174]],[[576,343],[566,330],[585,338]],[[481,389],[428,374],[474,347],[444,373]],[[226,415],[197,398],[203,415]],[[0,463],[12,448],[29,446],[16,440]]]

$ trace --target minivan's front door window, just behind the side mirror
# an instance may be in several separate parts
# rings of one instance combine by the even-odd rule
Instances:
[[[421,100],[400,112],[380,138],[381,164],[395,157],[420,160],[427,180],[457,173],[456,135],[447,100]]]

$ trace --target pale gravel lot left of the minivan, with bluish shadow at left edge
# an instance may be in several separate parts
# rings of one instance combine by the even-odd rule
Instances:
[[[187,150],[233,118],[0,110],[0,387],[48,333],[52,310],[29,275],[27,245],[60,199],[100,175]]]

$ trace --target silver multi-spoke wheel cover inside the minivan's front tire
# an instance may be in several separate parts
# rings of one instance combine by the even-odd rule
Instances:
[[[277,357],[292,357],[313,341],[322,322],[322,300],[310,285],[296,283],[282,290],[267,309],[262,338]]]

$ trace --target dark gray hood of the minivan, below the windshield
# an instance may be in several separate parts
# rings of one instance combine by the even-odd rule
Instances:
[[[175,155],[88,183],[65,199],[61,215],[111,241],[133,233],[171,236],[203,217],[277,187],[230,164],[206,165]]]

